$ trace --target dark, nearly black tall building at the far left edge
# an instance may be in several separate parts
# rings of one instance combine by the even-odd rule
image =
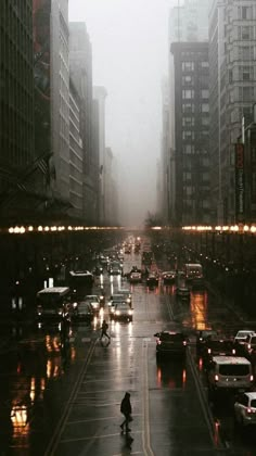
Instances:
[[[7,0],[0,10],[0,217],[16,223],[40,202],[31,179],[37,168],[31,0]]]

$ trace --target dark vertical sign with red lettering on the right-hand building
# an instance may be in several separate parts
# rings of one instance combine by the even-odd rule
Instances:
[[[243,143],[235,144],[235,218],[238,224],[245,221]]]

